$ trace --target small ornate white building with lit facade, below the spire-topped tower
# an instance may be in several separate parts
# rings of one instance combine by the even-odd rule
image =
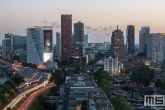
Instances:
[[[104,71],[107,71],[110,74],[117,74],[118,73],[118,58],[109,58],[104,59]]]

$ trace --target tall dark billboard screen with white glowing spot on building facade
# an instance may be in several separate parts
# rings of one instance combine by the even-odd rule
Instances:
[[[44,52],[51,53],[52,49],[52,30],[44,30]]]

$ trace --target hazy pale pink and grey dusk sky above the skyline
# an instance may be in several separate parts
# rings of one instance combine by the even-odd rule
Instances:
[[[0,0],[0,41],[5,33],[26,35],[26,28],[47,24],[54,26],[55,43],[61,14],[72,14],[72,24],[84,23],[89,42],[110,42],[116,25],[124,36],[127,25],[135,25],[138,43],[142,26],[165,32],[164,5],[165,0]]]

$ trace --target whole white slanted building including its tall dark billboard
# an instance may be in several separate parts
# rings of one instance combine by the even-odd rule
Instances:
[[[53,61],[52,26],[27,29],[27,62],[41,64]]]

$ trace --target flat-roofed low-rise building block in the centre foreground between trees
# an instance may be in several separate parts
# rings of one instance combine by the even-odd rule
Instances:
[[[96,93],[100,93],[103,95],[96,95]],[[90,94],[93,94],[93,97],[89,97]],[[102,98],[103,97],[103,98]],[[66,76],[65,84],[60,86],[60,98],[58,101],[58,108],[60,110],[80,110],[81,104],[84,100],[87,101],[88,108],[91,108],[91,100],[94,100],[97,104],[94,108],[113,108],[110,101],[108,100],[106,94],[97,87],[97,84],[93,80],[91,75],[88,74],[74,74],[73,76]],[[105,99],[105,100],[103,100]],[[98,102],[100,100],[100,102]],[[102,101],[105,103],[103,104]],[[103,104],[103,105],[102,105]],[[95,109],[89,109],[95,110]],[[114,109],[108,109],[114,110]]]

